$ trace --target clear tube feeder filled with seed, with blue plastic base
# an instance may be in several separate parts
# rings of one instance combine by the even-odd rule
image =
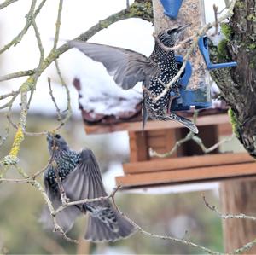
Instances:
[[[156,27],[157,33],[169,27],[191,24],[189,29],[183,32],[183,38],[180,38],[183,40],[195,35],[206,23],[203,0],[161,0],[160,2],[162,4],[154,9],[155,23],[160,24]],[[158,4],[157,0],[154,0],[153,3]],[[182,66],[182,56],[186,54],[189,46],[190,43],[185,43],[180,49],[175,49],[176,55],[179,55],[177,67]],[[196,109],[211,107],[210,76],[203,62],[200,50],[195,49],[189,56],[183,77],[181,77],[183,84],[180,84],[180,96],[173,100],[171,108],[173,111],[188,111],[190,107]]]

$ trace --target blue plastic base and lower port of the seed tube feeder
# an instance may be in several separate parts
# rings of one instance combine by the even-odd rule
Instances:
[[[177,67],[183,65],[183,56],[176,55]],[[192,67],[189,61],[186,62],[184,72],[178,81],[180,85],[179,96],[172,101],[172,111],[188,111],[190,107],[202,109],[211,107],[211,92],[207,90],[204,82],[201,82],[196,90],[187,90],[189,79],[192,75]],[[175,92],[171,92],[171,96],[175,96]]]

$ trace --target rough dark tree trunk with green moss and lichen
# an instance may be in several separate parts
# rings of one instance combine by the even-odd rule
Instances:
[[[256,158],[256,3],[238,1],[226,39],[212,50],[215,61],[237,61],[237,67],[211,72],[230,105],[237,138]]]

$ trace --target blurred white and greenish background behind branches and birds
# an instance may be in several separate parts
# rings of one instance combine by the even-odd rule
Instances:
[[[3,1],[0,1],[2,3]],[[224,1],[212,1],[224,6]],[[78,36],[98,22],[125,8],[125,0],[65,0],[61,19],[61,42]],[[132,1],[131,1],[132,3]],[[30,1],[18,1],[0,13],[0,49],[15,37],[24,26],[25,15]],[[55,20],[58,2],[48,1],[38,14],[38,27],[44,48],[52,48],[55,34]],[[207,21],[213,18],[212,9],[207,9]],[[154,27],[143,20],[123,20],[99,32],[91,42],[107,43],[134,49],[149,55],[153,49],[152,32]],[[26,70],[38,64],[38,49],[30,29],[16,47],[0,55],[0,76],[9,72]],[[53,66],[53,65],[52,65]],[[79,113],[78,94],[74,90],[74,77],[81,78],[92,86],[113,84],[111,78],[101,65],[84,58],[77,50],[69,50],[60,58],[61,72],[69,85],[72,96],[73,117],[61,130],[71,148],[79,150],[87,147],[96,154],[103,181],[108,192],[115,186],[114,177],[122,174],[121,163],[129,159],[129,144],[126,132],[107,135],[90,135],[84,132],[84,124]],[[99,77],[100,73],[100,77]],[[38,87],[32,100],[27,130],[52,130],[58,124],[55,107],[49,97],[47,77],[53,81],[56,100],[61,109],[66,108],[67,100],[64,88],[55,73],[55,67],[49,67],[39,78]],[[3,82],[0,95],[17,89],[24,78]],[[96,89],[97,91],[97,89]],[[15,101],[13,119],[18,121],[19,99]],[[6,118],[0,113],[0,131],[4,133]],[[14,133],[1,148],[1,159],[8,154]],[[239,142],[224,144],[221,151],[241,151]],[[49,159],[44,136],[28,136],[20,150],[20,165],[32,174],[44,167]],[[15,170],[10,170],[8,177],[18,177]],[[143,229],[159,235],[173,235],[185,238],[213,250],[223,251],[222,229],[220,219],[204,205],[201,194],[219,207],[218,183],[182,185],[178,187],[148,188],[132,190],[117,194],[117,202],[127,214]],[[201,251],[171,241],[157,240],[137,233],[131,238],[107,244],[78,245],[64,241],[60,236],[44,230],[38,223],[38,217],[44,200],[38,192],[26,183],[1,183],[0,185],[0,252],[20,254],[183,254]],[[86,218],[80,218],[69,233],[73,238],[83,238]],[[2,251],[1,251],[2,248]]]

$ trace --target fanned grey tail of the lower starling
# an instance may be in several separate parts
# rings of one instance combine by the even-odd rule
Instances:
[[[102,222],[98,217],[89,214],[87,231],[84,239],[87,241],[118,241],[127,238],[135,232],[135,227],[121,216],[119,212],[115,212],[117,217],[117,225],[111,228],[108,224]]]

